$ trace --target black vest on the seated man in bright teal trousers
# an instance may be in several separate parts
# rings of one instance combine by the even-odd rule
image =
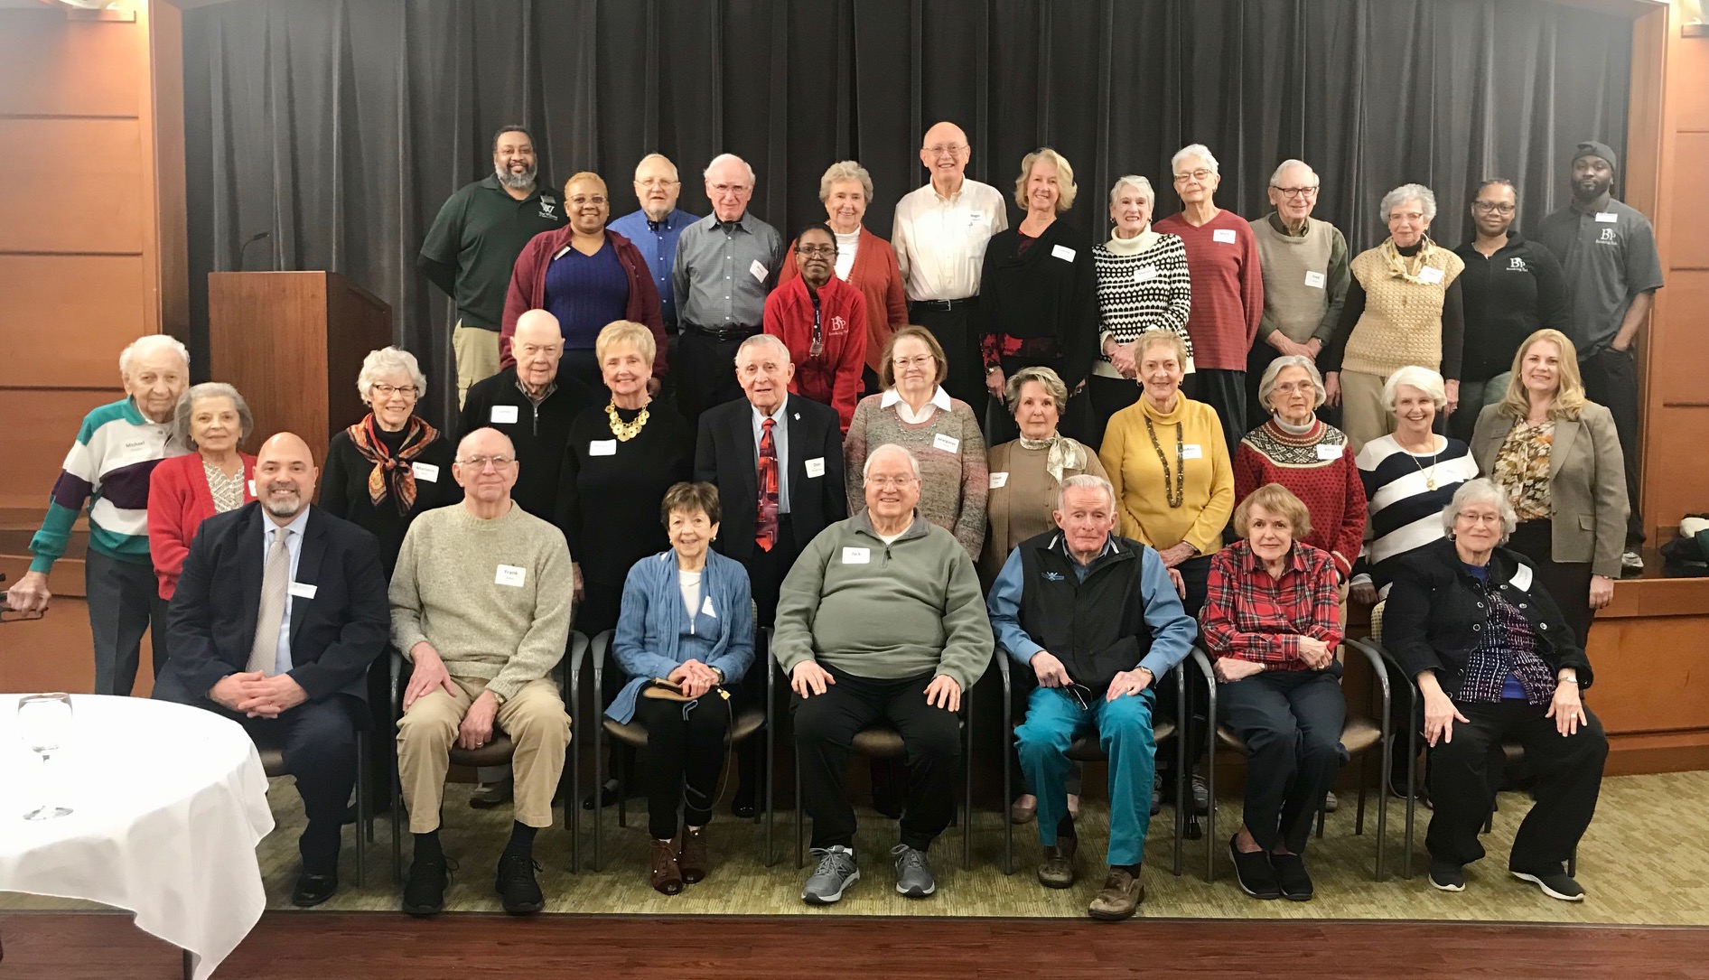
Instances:
[[[1085,580],[1060,530],[1020,542],[1020,628],[1094,694],[1152,648],[1140,592],[1143,544],[1111,535]]]

